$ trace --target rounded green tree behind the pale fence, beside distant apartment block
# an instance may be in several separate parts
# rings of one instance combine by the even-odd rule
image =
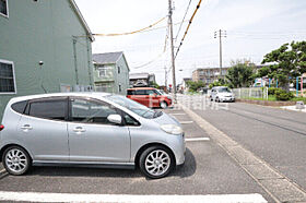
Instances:
[[[225,79],[228,82],[231,88],[247,87],[250,86],[254,75],[255,64],[248,61],[237,60],[232,61],[232,67],[227,70]]]

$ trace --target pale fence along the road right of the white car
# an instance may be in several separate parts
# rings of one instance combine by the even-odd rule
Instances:
[[[263,98],[268,99],[268,87],[233,88],[236,98]]]

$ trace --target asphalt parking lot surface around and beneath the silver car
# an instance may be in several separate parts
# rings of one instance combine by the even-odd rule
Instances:
[[[183,110],[166,110],[179,121],[192,121]],[[34,167],[25,176],[0,179],[1,191],[82,194],[260,194],[260,188],[196,122],[183,124],[186,163],[168,177],[151,180],[139,170]],[[0,196],[1,198],[1,196]],[[1,199],[0,199],[1,200]]]

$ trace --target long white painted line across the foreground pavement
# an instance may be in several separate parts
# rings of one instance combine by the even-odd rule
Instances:
[[[38,192],[5,192],[5,191],[0,191],[0,200],[24,201],[24,202],[267,203],[267,201],[260,194],[132,195],[132,194],[72,194],[72,193],[38,193]]]

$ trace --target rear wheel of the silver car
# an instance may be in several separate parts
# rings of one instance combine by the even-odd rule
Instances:
[[[2,155],[2,164],[10,175],[21,176],[28,171],[32,160],[24,148],[10,146]]]

